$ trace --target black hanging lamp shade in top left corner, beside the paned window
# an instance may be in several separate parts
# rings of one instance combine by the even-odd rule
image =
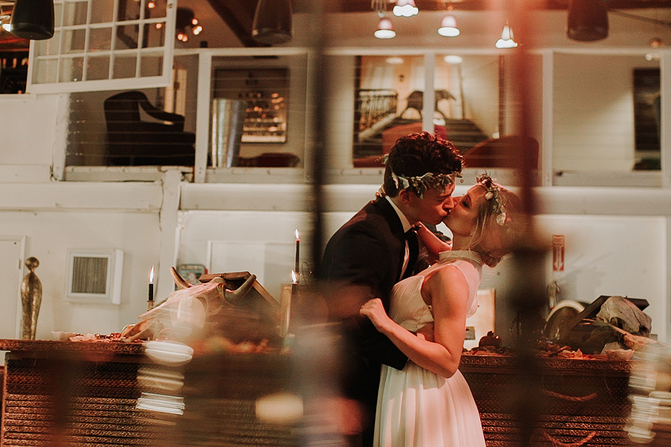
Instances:
[[[16,0],[12,10],[12,34],[42,41],[54,36],[53,0]]]

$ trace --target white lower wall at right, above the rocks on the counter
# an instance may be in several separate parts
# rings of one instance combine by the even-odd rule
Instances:
[[[565,268],[553,272],[563,299],[592,302],[600,295],[644,298],[650,307],[652,332],[665,334],[666,223],[662,217],[542,216],[549,235],[565,236]]]

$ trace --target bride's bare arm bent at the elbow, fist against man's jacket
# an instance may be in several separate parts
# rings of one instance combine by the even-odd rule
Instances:
[[[368,316],[377,330],[387,335],[414,363],[449,378],[461,360],[468,284],[459,269],[446,265],[424,280],[422,293],[432,298],[435,342],[421,339],[391,320],[379,298],[366,302],[360,313]]]

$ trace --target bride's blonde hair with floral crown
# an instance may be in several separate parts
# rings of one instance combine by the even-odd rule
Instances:
[[[494,267],[521,240],[523,214],[517,194],[493,181],[486,173],[477,177],[486,192],[479,204],[470,249]]]

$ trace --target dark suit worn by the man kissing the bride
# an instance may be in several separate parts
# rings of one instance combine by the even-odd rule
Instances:
[[[331,237],[324,249],[320,277],[326,281],[326,302],[333,319],[343,322],[347,343],[345,393],[363,402],[372,432],[380,383],[380,364],[403,369],[407,357],[368,318],[359,316],[359,307],[371,298],[380,298],[389,312],[389,294],[398,282],[405,256],[405,234],[398,214],[385,198],[364,206]],[[412,269],[415,260],[410,260]],[[354,286],[359,295],[347,293]],[[347,302],[343,303],[343,301]],[[343,310],[344,309],[344,310]],[[366,429],[364,429],[366,431]]]

